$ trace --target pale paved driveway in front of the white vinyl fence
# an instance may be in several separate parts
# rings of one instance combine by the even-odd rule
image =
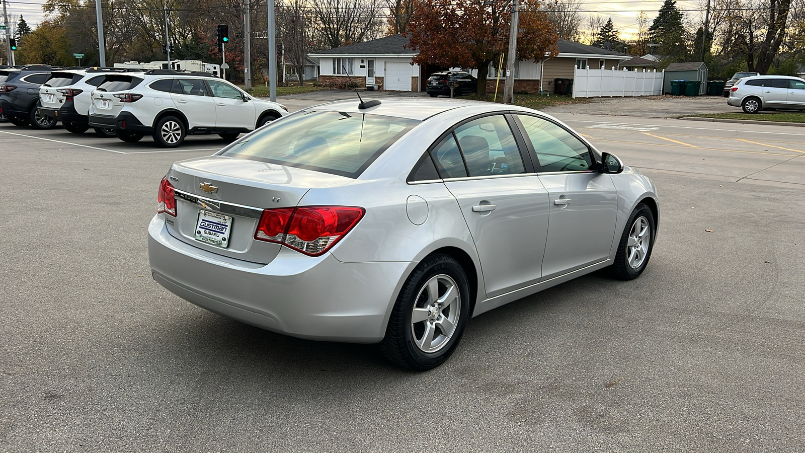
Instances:
[[[516,96],[515,96],[516,98]],[[640,118],[676,118],[687,114],[740,113],[720,96],[642,96],[640,98],[590,98],[589,104],[545,107],[550,114],[605,114]]]

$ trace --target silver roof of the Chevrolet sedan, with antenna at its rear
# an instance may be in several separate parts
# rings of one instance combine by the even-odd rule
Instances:
[[[365,98],[364,101],[368,101]],[[355,99],[345,101],[328,102],[318,106],[308,107],[303,111],[335,111],[355,114],[378,114],[396,118],[408,118],[423,121],[436,114],[444,113],[448,110],[474,109],[479,110],[477,114],[485,111],[501,110],[527,110],[518,106],[503,106],[495,102],[469,101],[464,99],[431,99],[431,98],[383,98],[379,106],[360,109],[361,102]]]

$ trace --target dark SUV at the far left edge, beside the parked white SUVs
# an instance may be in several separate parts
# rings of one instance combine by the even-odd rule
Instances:
[[[56,69],[43,64],[29,64],[22,68],[0,69],[0,115],[5,115],[16,126],[31,124],[36,129],[56,127],[56,118],[39,115],[39,85]]]

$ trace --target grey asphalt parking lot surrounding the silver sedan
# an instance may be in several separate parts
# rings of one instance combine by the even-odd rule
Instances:
[[[557,116],[657,183],[646,272],[474,318],[425,373],[151,280],[159,180],[223,140],[0,124],[0,451],[803,451],[801,128]]]

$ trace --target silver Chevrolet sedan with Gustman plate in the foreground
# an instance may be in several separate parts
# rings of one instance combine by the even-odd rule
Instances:
[[[654,183],[547,114],[468,101],[334,102],[176,162],[149,226],[154,279],[303,339],[380,343],[429,369],[469,318],[657,239]]]

